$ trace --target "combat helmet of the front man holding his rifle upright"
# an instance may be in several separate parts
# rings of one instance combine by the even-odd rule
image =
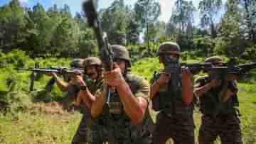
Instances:
[[[131,67],[131,58],[129,57],[129,52],[127,48],[122,45],[111,45],[113,50],[114,59],[122,59],[127,62],[127,67]]]

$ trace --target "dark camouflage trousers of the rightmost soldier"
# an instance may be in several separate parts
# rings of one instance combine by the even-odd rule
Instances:
[[[218,135],[222,144],[242,144],[240,120],[236,114],[202,116],[199,144],[213,144]]]

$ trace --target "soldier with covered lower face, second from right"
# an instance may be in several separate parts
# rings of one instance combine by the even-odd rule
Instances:
[[[176,144],[194,143],[193,76],[186,67],[179,67],[180,47],[166,42],[157,51],[164,72],[154,74],[150,99],[155,111],[154,144],[164,144],[169,138]]]

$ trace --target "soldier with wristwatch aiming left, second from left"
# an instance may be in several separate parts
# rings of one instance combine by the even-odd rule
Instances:
[[[87,127],[87,123],[90,120],[90,109],[92,102],[95,101],[95,94],[97,89],[102,87],[102,62],[97,57],[87,57],[83,62],[83,67],[85,67],[85,74],[90,78],[84,79],[82,75],[77,75],[75,77],[75,82],[79,84],[80,92],[77,99],[77,104],[85,104],[87,108],[87,113],[84,113],[78,130],[75,133],[75,136],[72,140],[73,144],[82,144],[82,143],[92,143],[90,138],[90,133],[97,133],[97,131],[91,131]],[[97,140],[100,141],[100,140]]]

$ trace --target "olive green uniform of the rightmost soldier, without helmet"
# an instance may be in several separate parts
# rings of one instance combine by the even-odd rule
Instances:
[[[196,79],[195,87],[202,87],[209,83],[208,76]],[[229,87],[236,88],[235,82],[229,82]],[[200,110],[203,114],[198,141],[200,144],[213,144],[220,136],[223,144],[241,144],[242,136],[240,120],[238,118],[238,96],[231,96],[226,102],[220,102],[218,97],[222,87],[210,89],[200,96]]]

